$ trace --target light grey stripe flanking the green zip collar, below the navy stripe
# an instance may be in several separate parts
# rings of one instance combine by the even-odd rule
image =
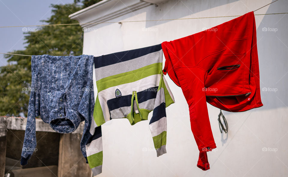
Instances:
[[[155,98],[140,103],[139,108],[152,111],[154,108],[154,103]],[[110,111],[110,115],[112,119],[118,119],[126,117],[130,112],[131,112],[131,106],[126,106]]]

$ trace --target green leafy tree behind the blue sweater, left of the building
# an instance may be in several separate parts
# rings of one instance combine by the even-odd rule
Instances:
[[[76,4],[53,5],[47,24],[78,23],[68,15],[81,10]],[[33,27],[32,27],[33,28]],[[36,30],[35,30],[36,31]],[[82,55],[83,31],[79,25],[42,26],[36,32],[26,32],[24,50],[9,53],[23,55]],[[9,64],[0,67],[0,116],[27,116],[31,86],[31,57],[5,55]]]

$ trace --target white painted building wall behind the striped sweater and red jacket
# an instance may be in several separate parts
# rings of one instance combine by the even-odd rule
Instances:
[[[131,12],[112,21],[176,19],[242,15],[271,0],[171,0]],[[255,12],[287,12],[288,2],[279,0]],[[102,55],[160,44],[192,35],[234,17],[160,22],[99,24],[84,33],[83,54]],[[219,109],[208,104],[217,149],[208,152],[211,169],[196,167],[199,151],[190,129],[189,111],[180,87],[166,76],[175,104],[167,108],[167,154],[156,157],[149,121],[131,126],[126,119],[102,126],[102,176],[288,176],[288,15],[255,16],[260,87],[263,107],[241,113],[223,111],[229,132],[220,134]],[[263,27],[277,32],[262,31]],[[209,45],[209,41],[207,41]],[[95,86],[96,87],[96,86]],[[96,90],[95,90],[96,92]],[[96,92],[97,93],[97,92]],[[152,114],[150,114],[149,119]],[[275,148],[277,152],[262,151]],[[271,149],[270,149],[271,150]]]

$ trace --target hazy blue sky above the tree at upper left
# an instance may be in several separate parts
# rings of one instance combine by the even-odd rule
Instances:
[[[41,25],[41,20],[51,16],[51,4],[69,4],[73,0],[0,0],[0,26]],[[23,27],[0,28],[0,52],[9,53],[24,49]],[[34,28],[34,27],[32,27]],[[36,54],[35,54],[36,55]],[[0,66],[7,64],[6,58],[0,54]]]

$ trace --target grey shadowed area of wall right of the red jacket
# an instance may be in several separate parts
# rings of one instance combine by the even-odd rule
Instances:
[[[278,1],[271,4],[266,13],[287,12],[287,7],[287,1]],[[287,14],[265,15],[257,28],[260,89],[264,105],[260,109],[288,106],[287,29]]]

